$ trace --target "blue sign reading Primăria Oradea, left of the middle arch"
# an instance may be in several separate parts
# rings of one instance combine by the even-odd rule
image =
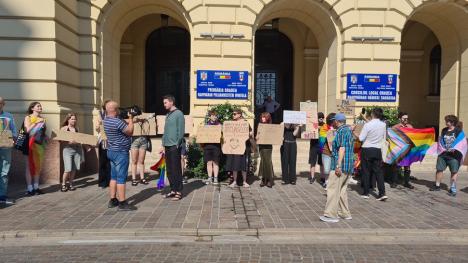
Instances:
[[[247,71],[198,70],[198,99],[247,100],[249,98]]]

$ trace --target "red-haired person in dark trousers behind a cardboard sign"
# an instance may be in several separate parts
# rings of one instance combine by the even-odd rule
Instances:
[[[260,115],[260,123],[271,123],[271,115],[268,112],[264,112]],[[258,138],[257,138],[258,140]],[[258,177],[262,178],[260,187],[267,186],[269,188],[274,185],[274,171],[273,162],[271,161],[271,154],[273,146],[271,144],[261,144],[258,146],[260,151],[260,166],[258,169]]]

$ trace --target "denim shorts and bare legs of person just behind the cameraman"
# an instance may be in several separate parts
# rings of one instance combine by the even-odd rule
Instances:
[[[132,155],[132,185],[148,184],[145,179],[145,157],[148,150],[149,139],[145,136],[133,137],[130,147]],[[137,170],[140,170],[140,181],[137,180]]]

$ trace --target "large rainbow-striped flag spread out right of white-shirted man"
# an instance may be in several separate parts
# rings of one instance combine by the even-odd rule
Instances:
[[[412,143],[412,148],[403,159],[398,163],[399,166],[410,166],[415,162],[422,162],[426,156],[427,150],[434,144],[435,130],[434,128],[414,129],[414,128],[399,128]]]

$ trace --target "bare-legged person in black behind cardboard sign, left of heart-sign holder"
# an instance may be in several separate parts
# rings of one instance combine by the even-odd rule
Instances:
[[[210,118],[206,125],[221,125],[218,120],[216,111],[209,111]],[[208,172],[208,179],[206,184],[218,185],[219,174],[219,159],[221,157],[221,144],[220,143],[205,143],[203,144],[203,158],[206,163],[206,170]]]

